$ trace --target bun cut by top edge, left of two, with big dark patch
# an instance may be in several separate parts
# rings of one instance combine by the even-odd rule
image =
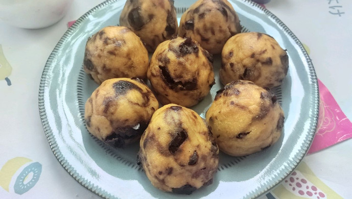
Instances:
[[[128,0],[120,15],[120,25],[129,27],[145,43],[149,52],[177,36],[173,0]]]

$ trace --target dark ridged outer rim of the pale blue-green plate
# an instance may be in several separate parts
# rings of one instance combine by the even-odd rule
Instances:
[[[65,170],[70,174],[70,176],[72,176],[77,182],[79,182],[83,187],[87,188],[88,190],[92,191],[93,193],[102,196],[104,198],[116,198],[115,196],[112,196],[110,193],[107,193],[105,190],[102,190],[101,187],[98,187],[97,185],[94,185],[90,182],[88,182],[87,180],[85,180],[84,178],[82,178],[82,176],[78,175],[78,172],[76,170],[73,169],[73,167],[67,162],[67,160],[62,156],[61,151],[59,150],[56,142],[55,142],[55,137],[53,135],[53,131],[51,129],[51,127],[48,125],[48,120],[47,120],[47,115],[46,115],[46,110],[45,110],[45,105],[44,105],[44,90],[45,90],[45,81],[47,80],[47,73],[49,71],[49,69],[51,68],[50,64],[52,63],[52,61],[55,59],[56,54],[58,53],[58,51],[61,48],[61,45],[66,41],[67,36],[72,34],[74,32],[74,30],[76,30],[81,22],[83,20],[85,20],[86,18],[88,18],[89,15],[91,15],[92,13],[94,13],[96,10],[103,8],[105,6],[108,6],[111,3],[117,2],[117,1],[121,1],[121,0],[107,0],[97,6],[95,6],[94,8],[90,9],[88,12],[86,12],[84,15],[82,15],[75,23],[73,23],[73,25],[65,32],[65,34],[60,38],[58,44],[55,46],[55,48],[53,49],[53,52],[49,55],[43,72],[42,72],[42,76],[41,76],[41,80],[40,80],[40,85],[39,85],[39,95],[38,95],[38,106],[39,106],[39,115],[40,115],[40,119],[42,122],[42,126],[44,129],[44,133],[47,137],[49,146],[51,147],[55,157],[57,158],[57,160],[60,162],[60,164],[65,168]],[[310,122],[312,122],[312,125],[310,126],[310,129],[308,130],[308,135],[310,136],[308,140],[305,140],[304,143],[302,143],[302,145],[300,146],[299,150],[303,150],[305,151],[305,153],[301,153],[299,155],[298,158],[296,158],[294,161],[296,164],[292,167],[289,168],[289,170],[291,170],[290,172],[286,173],[285,172],[285,177],[281,178],[278,182],[275,182],[274,184],[278,184],[281,181],[283,181],[286,176],[291,173],[299,164],[299,162],[304,158],[304,156],[306,155],[306,153],[308,152],[308,149],[312,143],[315,131],[316,131],[316,127],[317,127],[317,122],[318,122],[318,111],[319,111],[319,88],[318,88],[318,81],[317,81],[317,77],[316,77],[316,73],[315,73],[315,69],[313,66],[313,63],[306,51],[306,49],[304,48],[303,44],[301,44],[301,42],[298,40],[298,38],[293,34],[293,32],[286,26],[286,24],[284,22],[282,22],[277,16],[275,16],[273,13],[271,13],[269,10],[267,10],[266,8],[263,8],[262,6],[260,6],[259,4],[249,1],[249,0],[241,0],[242,2],[244,2],[245,4],[249,4],[253,7],[258,8],[259,10],[261,10],[262,12],[264,12],[269,18],[271,18],[272,20],[274,20],[276,22],[276,24],[278,24],[279,27],[281,27],[283,29],[283,31],[288,34],[293,40],[294,42],[299,46],[301,52],[303,52],[307,64],[308,64],[308,69],[309,69],[309,76],[310,76],[310,80],[312,81],[313,84],[310,84],[310,88],[311,88],[311,96],[310,97],[310,101],[311,103],[315,103],[315,106],[312,108],[313,110],[311,110],[312,112],[310,112]],[[315,100],[314,100],[315,98]],[[274,185],[274,186],[275,186]],[[265,187],[266,188],[263,188]],[[266,184],[262,187],[259,187],[259,189],[263,189],[263,191],[261,192],[249,192],[247,193],[246,196],[244,196],[244,198],[255,198],[257,196],[260,196],[266,192],[268,192],[272,187],[274,186],[267,186]]]

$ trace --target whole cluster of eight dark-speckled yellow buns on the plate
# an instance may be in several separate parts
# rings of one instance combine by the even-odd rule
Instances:
[[[121,26],[88,39],[84,70],[100,86],[87,99],[85,121],[114,147],[139,141],[137,163],[152,184],[190,194],[212,183],[219,149],[243,156],[279,139],[284,113],[269,88],[284,80],[288,56],[266,34],[240,33],[227,0],[198,0],[179,27],[173,3],[128,0]],[[215,84],[212,54],[220,53],[225,86],[205,120],[190,107]]]

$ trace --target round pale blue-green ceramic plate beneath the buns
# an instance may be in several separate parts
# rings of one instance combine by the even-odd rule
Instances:
[[[180,19],[194,1],[175,1]],[[179,198],[153,187],[136,164],[138,143],[114,149],[92,137],[84,122],[84,104],[98,86],[83,72],[87,38],[105,26],[116,25],[125,1],[106,1],[83,15],[60,39],[49,56],[39,87],[39,112],[49,145],[70,175],[106,198]],[[289,72],[274,92],[285,112],[280,140],[245,157],[220,153],[213,184],[183,198],[254,198],[280,183],[305,156],[318,118],[318,84],[311,60],[295,35],[268,10],[251,1],[232,1],[244,31],[273,36],[287,49]],[[200,116],[221,88],[215,57],[216,85],[195,107]]]

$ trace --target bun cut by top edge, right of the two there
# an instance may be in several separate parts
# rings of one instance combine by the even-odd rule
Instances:
[[[227,0],[198,0],[180,21],[179,36],[191,37],[211,54],[220,54],[225,42],[241,32],[240,21]]]

